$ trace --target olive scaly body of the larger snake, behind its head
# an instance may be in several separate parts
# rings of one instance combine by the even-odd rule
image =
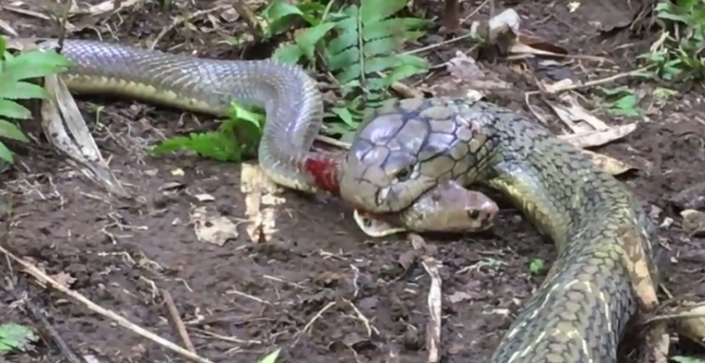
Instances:
[[[487,184],[558,248],[491,362],[614,363],[637,311],[629,249],[643,249],[658,282],[654,225],[626,187],[580,150],[508,110],[486,111],[474,121],[490,140]]]

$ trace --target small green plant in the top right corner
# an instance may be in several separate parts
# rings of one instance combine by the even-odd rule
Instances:
[[[661,0],[655,15],[663,34],[641,58],[657,67],[667,81],[699,80],[705,76],[705,3]]]

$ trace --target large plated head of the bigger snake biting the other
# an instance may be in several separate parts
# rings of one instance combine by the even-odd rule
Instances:
[[[406,209],[471,169],[475,133],[454,105],[396,101],[358,130],[341,170],[340,194],[371,213]]]

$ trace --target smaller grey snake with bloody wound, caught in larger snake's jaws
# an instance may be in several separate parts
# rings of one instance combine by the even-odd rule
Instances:
[[[55,39],[18,39],[57,49]],[[74,63],[62,79],[70,91],[112,94],[204,114],[225,116],[233,101],[264,107],[258,158],[268,178],[302,192],[337,194],[342,157],[310,152],[322,126],[317,83],[300,67],[273,60],[231,61],[147,51],[113,43],[66,40],[61,53]],[[356,213],[364,233],[479,232],[490,228],[498,207],[483,193],[454,182],[440,184],[400,212]]]

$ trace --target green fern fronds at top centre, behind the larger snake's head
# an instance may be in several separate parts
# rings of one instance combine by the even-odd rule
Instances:
[[[271,24],[271,35],[295,20],[309,25],[293,43],[279,47],[273,58],[289,64],[305,60],[313,67],[322,60],[343,96],[327,114],[342,123],[328,122],[323,132],[343,135],[356,130],[365,114],[388,98],[392,83],[428,71],[425,59],[401,53],[405,43],[424,36],[420,29],[427,21],[393,18],[406,6],[405,0],[362,0],[360,6],[339,11],[333,11],[332,4],[291,5],[277,0],[264,17]]]

